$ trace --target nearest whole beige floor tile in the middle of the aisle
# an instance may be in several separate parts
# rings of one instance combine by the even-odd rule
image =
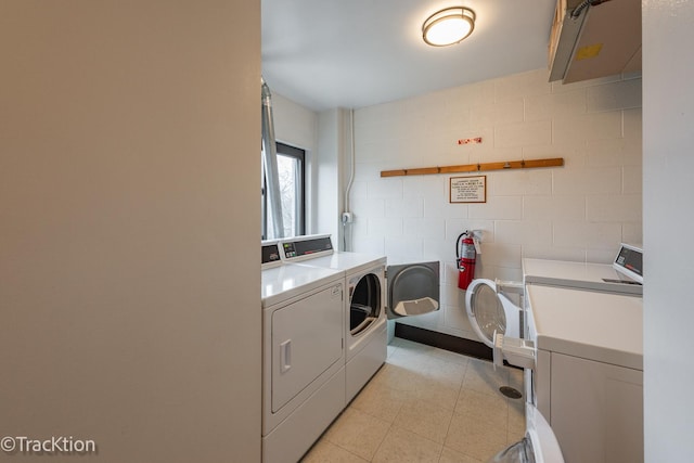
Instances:
[[[453,411],[413,398],[404,403],[393,425],[444,443]]]

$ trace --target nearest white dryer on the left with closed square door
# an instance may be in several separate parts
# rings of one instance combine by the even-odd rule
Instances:
[[[261,247],[262,461],[296,462],[345,407],[344,272]]]

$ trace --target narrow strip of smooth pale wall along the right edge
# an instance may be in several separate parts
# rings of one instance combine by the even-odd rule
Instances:
[[[646,462],[692,460],[694,3],[643,2]]]

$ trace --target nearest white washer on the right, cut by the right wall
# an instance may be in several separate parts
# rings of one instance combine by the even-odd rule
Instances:
[[[510,344],[535,353],[526,394],[566,461],[643,462],[643,299],[528,285],[527,303]]]

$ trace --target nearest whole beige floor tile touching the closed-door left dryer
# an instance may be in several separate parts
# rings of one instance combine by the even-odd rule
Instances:
[[[390,424],[348,408],[324,434],[325,440],[371,461]]]

